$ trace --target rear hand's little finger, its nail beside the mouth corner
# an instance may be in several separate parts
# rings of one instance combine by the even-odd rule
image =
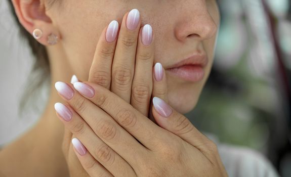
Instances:
[[[153,91],[151,100],[154,97],[158,97],[168,103],[168,88],[167,88],[167,78],[164,72],[164,68],[162,67],[161,63],[156,63],[154,65],[153,72]],[[152,115],[152,108],[153,104],[150,102],[150,112],[149,112],[149,119],[156,123],[153,115]]]

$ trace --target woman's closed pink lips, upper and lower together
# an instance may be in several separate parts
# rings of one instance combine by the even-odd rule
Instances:
[[[205,75],[204,67],[208,59],[205,53],[195,53],[190,57],[168,67],[166,70],[186,81],[198,82]]]

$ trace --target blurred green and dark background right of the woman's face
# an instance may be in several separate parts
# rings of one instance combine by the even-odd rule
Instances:
[[[223,143],[262,152],[291,176],[291,1],[220,0],[213,70],[186,114]]]

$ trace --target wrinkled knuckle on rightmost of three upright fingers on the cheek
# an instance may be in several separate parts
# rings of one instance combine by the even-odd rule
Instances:
[[[145,104],[149,98],[150,95],[150,89],[149,86],[146,85],[135,85],[132,88],[132,95],[133,98],[139,103],[139,104]]]

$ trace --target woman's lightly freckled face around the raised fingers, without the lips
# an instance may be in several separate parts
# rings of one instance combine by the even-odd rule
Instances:
[[[210,74],[220,16],[216,0],[56,0],[48,15],[59,29],[66,60],[80,79],[87,80],[101,31],[112,20],[121,24],[131,9],[141,14],[141,26],[155,34],[154,63],[166,69],[169,104],[180,113],[191,111]],[[193,53],[208,59],[198,82],[173,75],[167,68]]]

